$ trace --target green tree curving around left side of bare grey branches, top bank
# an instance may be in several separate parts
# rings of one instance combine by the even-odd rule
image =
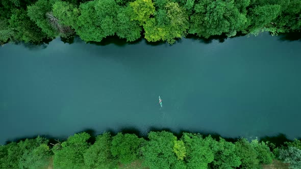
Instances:
[[[56,0],[39,0],[34,5],[27,8],[28,16],[47,35],[48,38],[59,36],[59,31],[49,23],[47,13],[52,12],[52,5]]]

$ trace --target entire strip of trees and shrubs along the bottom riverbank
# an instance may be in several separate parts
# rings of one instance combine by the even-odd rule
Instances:
[[[164,130],[145,138],[121,132],[81,132],[66,140],[37,136],[0,146],[0,168],[301,168],[300,140],[275,138],[175,136]]]

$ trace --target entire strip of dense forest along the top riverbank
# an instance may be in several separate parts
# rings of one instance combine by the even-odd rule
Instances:
[[[299,32],[300,0],[1,0],[0,44],[75,35],[89,42]]]

